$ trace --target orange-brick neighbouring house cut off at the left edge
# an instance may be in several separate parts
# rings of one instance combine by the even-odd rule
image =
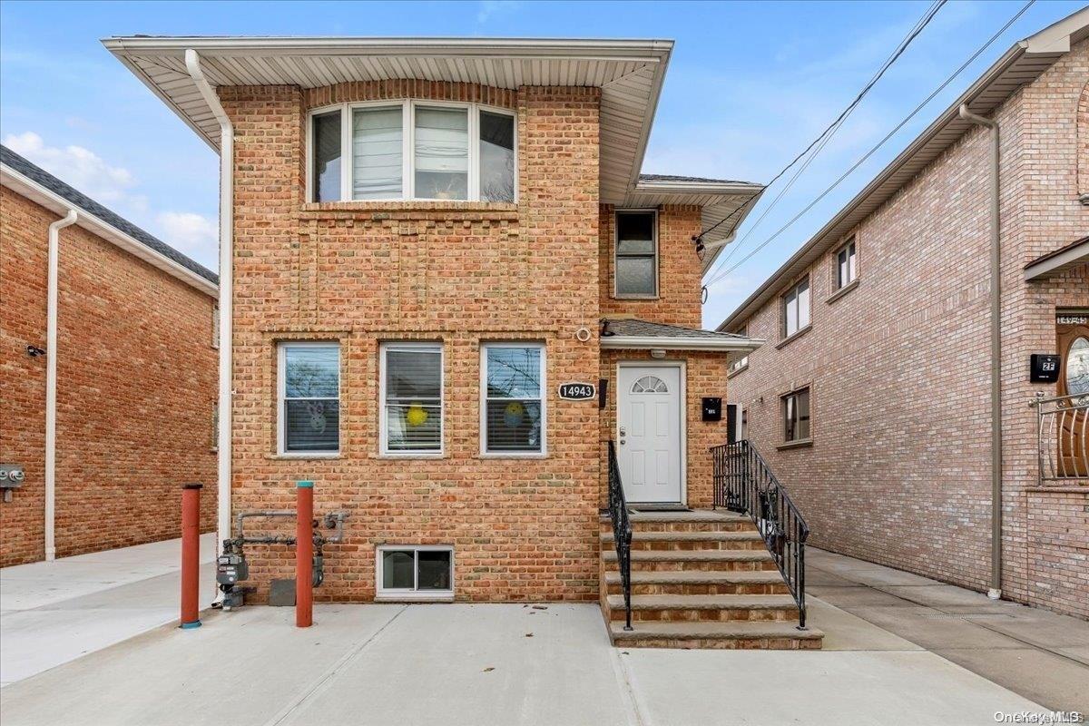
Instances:
[[[217,276],[5,147],[0,183],[0,565],[178,537],[216,475]]]

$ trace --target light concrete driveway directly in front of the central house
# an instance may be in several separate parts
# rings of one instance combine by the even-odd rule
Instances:
[[[4,726],[993,724],[1042,706],[842,610],[825,651],[616,650],[596,605],[209,614],[9,686]]]

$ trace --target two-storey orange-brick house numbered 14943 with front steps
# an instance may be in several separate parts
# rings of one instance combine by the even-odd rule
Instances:
[[[694,512],[726,438],[702,399],[757,343],[699,330],[741,216],[693,238],[762,187],[639,173],[671,41],[103,42],[221,157],[222,538],[314,480],[347,513],[319,600],[616,619],[622,491],[654,509],[629,638],[819,645],[748,520]],[[293,576],[290,545],[246,556],[253,602]]]

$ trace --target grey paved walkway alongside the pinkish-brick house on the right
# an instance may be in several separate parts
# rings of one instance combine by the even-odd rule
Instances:
[[[806,550],[810,595],[1054,711],[1089,713],[1089,623],[844,555]],[[817,605],[818,613],[821,605]],[[843,628],[824,648],[835,648]],[[840,635],[834,635],[834,633]]]

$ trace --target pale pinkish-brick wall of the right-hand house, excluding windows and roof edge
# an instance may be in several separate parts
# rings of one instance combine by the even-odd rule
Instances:
[[[1056,307],[1089,306],[1087,268],[1025,283],[1027,261],[1089,231],[1077,200],[1082,42],[996,118],[1002,133],[1005,596],[1086,616],[1086,493],[1035,489],[1030,353]],[[812,330],[778,348],[780,303],[748,321],[768,344],[730,379],[748,436],[790,488],[811,543],[986,590],[990,580],[989,135],[975,128],[857,230],[859,284],[835,300],[834,249],[808,271]],[[785,291],[787,285],[783,285]],[[810,385],[811,446],[779,450],[779,398]],[[1079,504],[1080,503],[1080,504]],[[1043,521],[1052,524],[1043,527]],[[1062,583],[1062,585],[1059,585]]]

